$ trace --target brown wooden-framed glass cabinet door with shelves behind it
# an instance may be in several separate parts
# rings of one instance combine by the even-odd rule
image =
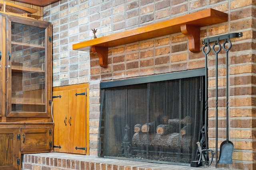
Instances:
[[[37,20],[6,17],[7,116],[50,116],[48,27]]]

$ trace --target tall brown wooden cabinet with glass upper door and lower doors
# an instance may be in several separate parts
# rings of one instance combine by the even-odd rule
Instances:
[[[0,23],[0,170],[20,170],[21,154],[52,150],[52,24],[1,12]]]

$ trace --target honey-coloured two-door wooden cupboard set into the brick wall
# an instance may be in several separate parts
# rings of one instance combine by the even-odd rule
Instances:
[[[56,89],[53,92],[54,151],[88,154],[88,84]]]

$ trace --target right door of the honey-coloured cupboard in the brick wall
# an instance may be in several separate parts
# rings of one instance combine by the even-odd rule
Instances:
[[[86,88],[69,90],[68,152],[86,154]]]

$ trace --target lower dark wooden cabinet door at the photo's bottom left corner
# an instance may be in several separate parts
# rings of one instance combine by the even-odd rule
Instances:
[[[19,128],[0,128],[0,170],[20,170]]]

